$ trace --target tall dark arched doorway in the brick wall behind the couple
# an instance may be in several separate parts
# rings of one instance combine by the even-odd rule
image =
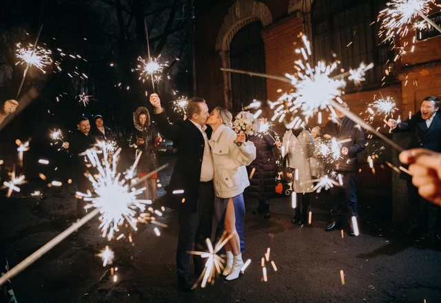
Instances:
[[[233,37],[229,48],[231,68],[249,72],[265,73],[265,47],[263,45],[260,21],[249,23]],[[265,78],[232,73],[232,111],[239,112],[254,99],[266,101],[267,81]]]

